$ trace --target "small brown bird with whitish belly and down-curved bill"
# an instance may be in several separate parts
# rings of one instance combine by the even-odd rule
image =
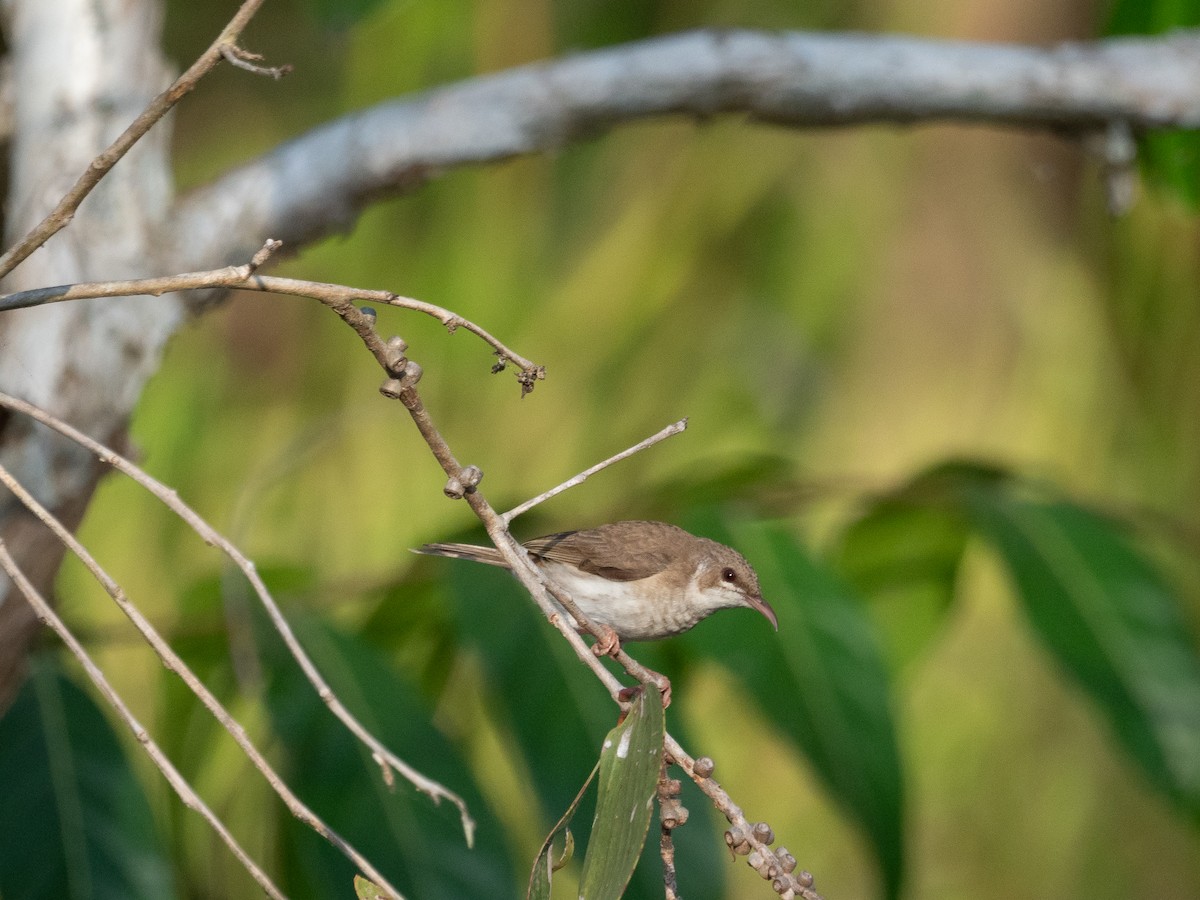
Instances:
[[[680,635],[718,610],[754,610],[779,630],[775,611],[763,600],[758,575],[746,558],[678,526],[613,522],[547,534],[522,546],[604,631],[596,635],[596,655],[614,655],[626,642]],[[426,544],[413,552],[509,568],[496,547],[474,544]]]

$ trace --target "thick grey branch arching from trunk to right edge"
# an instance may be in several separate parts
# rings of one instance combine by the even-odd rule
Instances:
[[[181,199],[167,265],[299,247],[382,194],[648,116],[788,127],[966,120],[1091,133],[1200,127],[1200,36],[1051,48],[914,37],[692,31],[473,78],[344,116]]]

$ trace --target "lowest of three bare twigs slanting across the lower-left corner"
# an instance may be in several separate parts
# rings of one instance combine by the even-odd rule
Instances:
[[[258,864],[251,859],[250,854],[242,850],[241,845],[238,844],[238,839],[234,838],[229,829],[224,827],[224,823],[217,818],[216,814],[209,809],[208,804],[200,799],[200,796],[196,793],[192,786],[187,782],[179,769],[172,764],[167,755],[163,754],[162,748],[155,743],[154,738],[146,732],[142,724],[137,720],[130,708],[121,700],[121,695],[109,684],[104,673],[100,671],[96,662],[88,655],[88,650],[84,649],[83,644],[79,643],[78,638],[71,634],[71,629],[66,626],[54,612],[54,608],[46,601],[34,587],[32,582],[25,577],[25,574],[17,565],[17,560],[12,558],[8,552],[7,545],[4,540],[0,540],[0,569],[4,570],[12,583],[16,584],[17,589],[25,596],[29,605],[34,607],[34,613],[37,618],[54,631],[61,638],[62,643],[66,644],[67,649],[79,660],[79,665],[83,666],[83,671],[86,672],[91,683],[96,685],[96,689],[104,696],[104,700],[116,710],[116,714],[121,720],[128,726],[130,731],[137,738],[138,743],[145,748],[146,755],[150,757],[151,762],[158,768],[167,779],[167,782],[175,790],[179,798],[184,802],[184,805],[188,809],[193,809],[200,814],[205,822],[212,828],[214,832],[224,841],[226,846],[233,852],[238,858],[238,862],[251,874],[251,876],[259,883],[263,890],[266,892],[268,896],[277,898],[277,900],[284,900],[283,892],[281,892],[275,883],[271,881],[270,876],[258,868]]]

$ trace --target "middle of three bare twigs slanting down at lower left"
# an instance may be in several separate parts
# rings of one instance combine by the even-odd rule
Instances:
[[[49,422],[47,422],[49,424]],[[383,887],[390,893],[390,896],[401,898],[400,892],[397,892],[391,884],[380,875],[373,865],[364,857],[359,851],[356,851],[344,838],[342,838],[337,832],[330,828],[324,820],[320,818],[316,812],[313,812],[299,797],[296,797],[292,788],[287,786],[282,778],[271,768],[270,763],[266,762],[266,757],[263,756],[258,748],[251,742],[246,736],[246,730],[229,714],[216,696],[204,686],[204,683],[196,677],[184,662],[182,659],[170,648],[166,638],[158,634],[150,620],[142,614],[128,598],[125,595],[125,590],[116,580],[113,578],[104,569],[96,562],[95,557],[88,552],[88,548],[79,542],[79,540],[71,534],[71,530],[62,524],[46,506],[37,502],[37,499],[29,493],[22,486],[17,479],[4,466],[0,466],[0,484],[7,487],[12,493],[19,499],[30,512],[32,512],[37,518],[58,538],[64,546],[66,546],[79,560],[84,564],[88,571],[91,572],[92,577],[100,583],[104,592],[113,598],[113,601],[120,607],[121,612],[128,617],[133,626],[142,634],[146,643],[154,649],[158,658],[163,661],[172,672],[178,674],[184,683],[187,685],[188,690],[194,694],[204,707],[209,710],[214,719],[216,719],[224,727],[226,731],[233,737],[241,751],[246,754],[246,758],[251,761],[256,769],[262,773],[263,778],[271,786],[271,790],[283,800],[284,805],[292,812],[293,816],[299,818],[301,822],[312,828],[317,834],[332,844],[347,859],[354,863],[361,872],[374,881],[377,884]],[[328,701],[326,701],[328,702]],[[139,736],[140,737],[140,736]]]

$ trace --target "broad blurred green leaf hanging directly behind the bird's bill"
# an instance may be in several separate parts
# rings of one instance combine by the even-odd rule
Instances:
[[[738,547],[779,614],[719,613],[685,640],[725,662],[865,833],[887,896],[904,882],[904,790],[888,677],[862,600],[781,526],[704,533]],[[714,617],[715,618],[715,617]]]

